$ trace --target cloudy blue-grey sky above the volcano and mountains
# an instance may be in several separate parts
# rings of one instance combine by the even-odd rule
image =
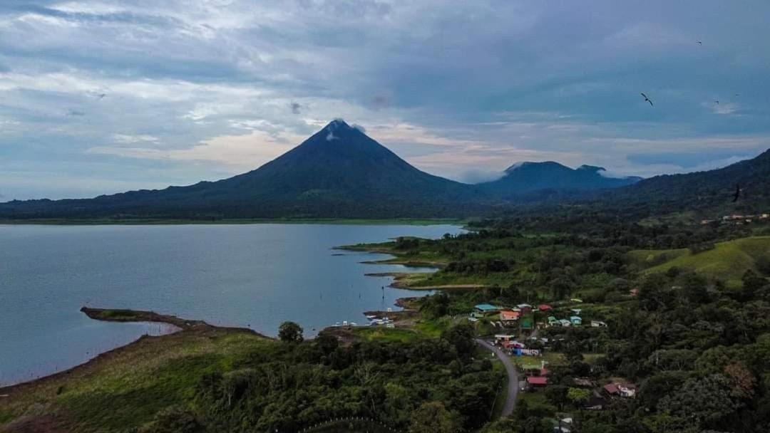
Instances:
[[[2,0],[0,202],[226,178],[333,118],[461,182],[522,161],[717,168],[770,148],[768,16],[766,0]]]

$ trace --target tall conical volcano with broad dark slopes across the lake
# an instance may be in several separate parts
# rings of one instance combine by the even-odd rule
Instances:
[[[421,172],[335,120],[243,175],[92,199],[0,204],[0,218],[269,218],[464,216],[479,192]]]

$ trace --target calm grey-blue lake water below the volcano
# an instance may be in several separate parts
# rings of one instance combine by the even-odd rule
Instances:
[[[169,331],[94,321],[79,311],[82,305],[152,310],[266,335],[276,335],[286,320],[300,323],[306,336],[337,321],[366,324],[363,311],[424,292],[388,288],[391,278],[364,275],[406,269],[360,263],[387,255],[331,248],[460,231],[451,225],[0,225],[0,385]]]

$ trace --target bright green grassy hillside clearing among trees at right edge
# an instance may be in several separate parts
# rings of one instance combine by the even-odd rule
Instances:
[[[741,277],[748,269],[756,271],[760,257],[770,257],[770,236],[735,239],[719,242],[715,248],[698,254],[687,249],[637,250],[629,252],[632,260],[657,263],[664,255],[665,261],[644,270],[646,273],[665,272],[677,267],[696,271],[711,278],[719,278],[728,285],[740,285]]]

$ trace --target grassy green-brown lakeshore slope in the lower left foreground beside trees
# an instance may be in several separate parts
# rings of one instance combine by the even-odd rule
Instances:
[[[229,371],[250,354],[278,346],[249,331],[213,327],[143,337],[70,371],[0,389],[8,395],[0,399],[0,431],[12,419],[16,429],[10,431],[49,431],[39,423],[67,431],[126,431],[170,405],[192,405],[204,374]]]

